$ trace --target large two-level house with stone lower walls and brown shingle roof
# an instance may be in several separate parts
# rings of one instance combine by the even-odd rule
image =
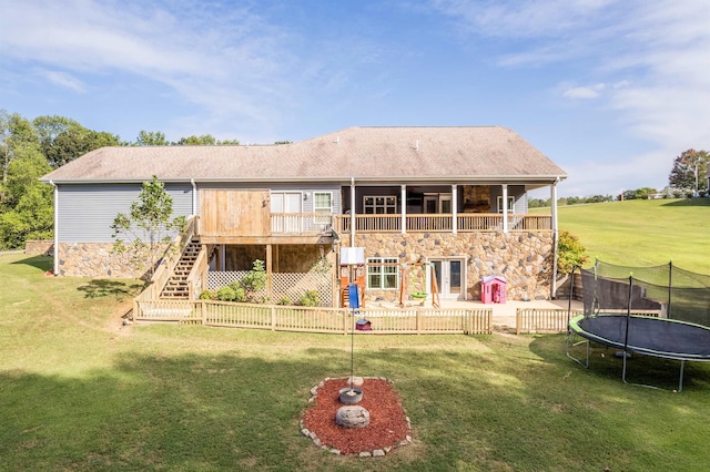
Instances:
[[[566,174],[506,127],[363,126],[281,145],[92,151],[42,177],[54,186],[57,275],[135,276],[111,253],[110,226],[153,175],[174,215],[192,218],[186,245],[201,261],[185,271],[200,289],[262,259],[272,299],[297,296],[310,274],[321,300],[337,305],[339,249],[363,247],[367,299],[394,300],[405,283],[476,299],[491,275],[506,278],[509,299],[554,290]],[[542,187],[550,214],[528,214],[528,193]]]

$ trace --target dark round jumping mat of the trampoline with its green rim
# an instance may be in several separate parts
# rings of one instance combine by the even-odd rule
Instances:
[[[631,316],[626,349],[648,356],[710,361],[710,328],[666,318]],[[578,316],[569,327],[579,336],[616,348],[626,345],[626,315]]]

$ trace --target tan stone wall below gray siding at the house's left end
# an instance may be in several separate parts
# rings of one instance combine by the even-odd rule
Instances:
[[[60,243],[58,275],[69,277],[139,278],[125,257],[112,254],[112,243]]]

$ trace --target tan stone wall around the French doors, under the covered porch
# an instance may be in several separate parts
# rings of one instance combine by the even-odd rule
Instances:
[[[491,275],[506,278],[510,300],[550,298],[554,253],[549,232],[357,234],[355,246],[365,247],[365,257],[396,257],[408,264],[427,257],[466,258],[469,300],[480,299],[480,279]],[[376,296],[389,299],[398,294],[367,294],[371,299]]]

